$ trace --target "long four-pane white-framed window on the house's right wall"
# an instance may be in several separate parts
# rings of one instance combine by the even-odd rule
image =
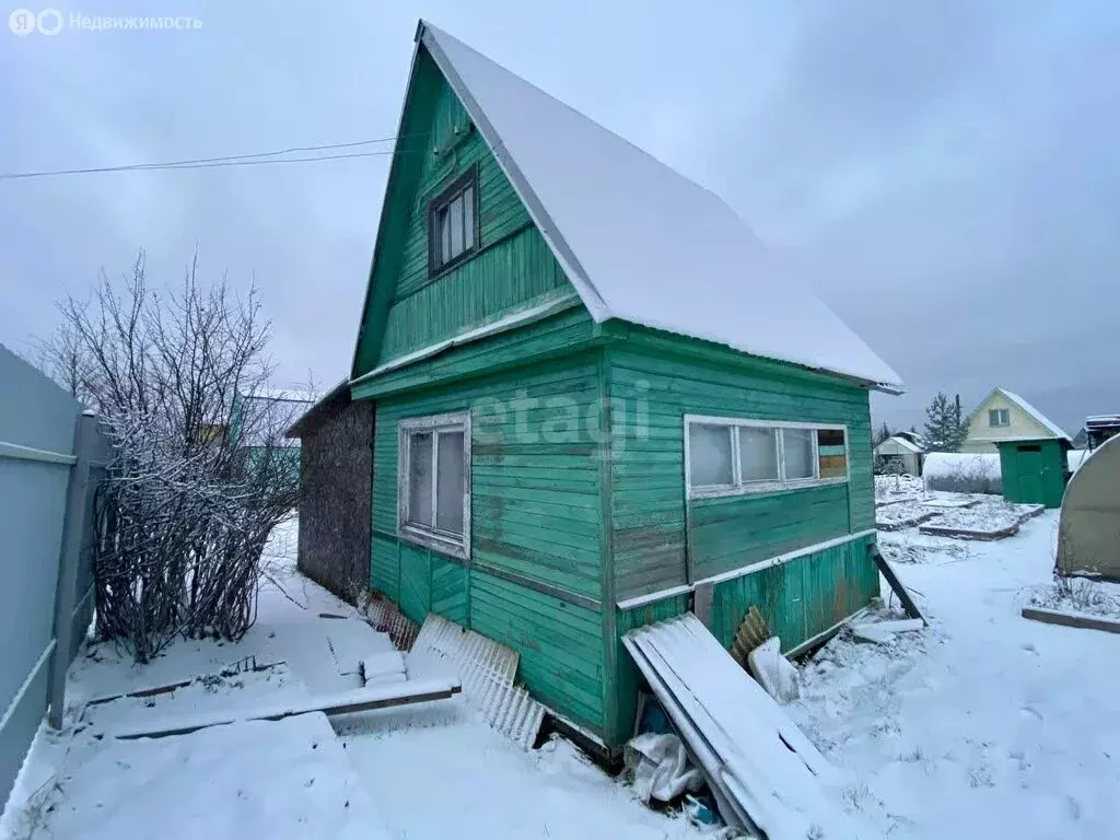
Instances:
[[[689,414],[684,474],[690,498],[844,482],[847,427]]]

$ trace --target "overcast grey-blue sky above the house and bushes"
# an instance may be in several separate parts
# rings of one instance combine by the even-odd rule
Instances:
[[[29,0],[20,6],[38,11]],[[9,7],[16,2],[9,0]],[[1120,411],[1120,4],[58,2],[186,31],[17,38],[0,8],[0,171],[348,142],[396,129],[417,18],[724,196],[906,382],[1004,385],[1071,433]],[[388,148],[388,147],[386,147]],[[346,372],[388,158],[0,181],[0,342],[139,248],[174,282],[253,278],[281,381]]]

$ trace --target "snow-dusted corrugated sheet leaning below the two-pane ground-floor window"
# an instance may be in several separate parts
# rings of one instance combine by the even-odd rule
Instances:
[[[533,746],[544,707],[513,684],[517,673],[514,651],[435,614],[424,620],[412,651],[446,660],[458,673],[467,700],[487,724],[523,749]]]

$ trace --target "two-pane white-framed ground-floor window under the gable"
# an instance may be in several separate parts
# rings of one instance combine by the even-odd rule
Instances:
[[[470,416],[409,418],[399,430],[401,535],[465,558],[470,541]]]

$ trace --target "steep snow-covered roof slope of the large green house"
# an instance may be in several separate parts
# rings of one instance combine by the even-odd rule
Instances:
[[[596,321],[900,380],[721,198],[421,21],[463,102]]]

